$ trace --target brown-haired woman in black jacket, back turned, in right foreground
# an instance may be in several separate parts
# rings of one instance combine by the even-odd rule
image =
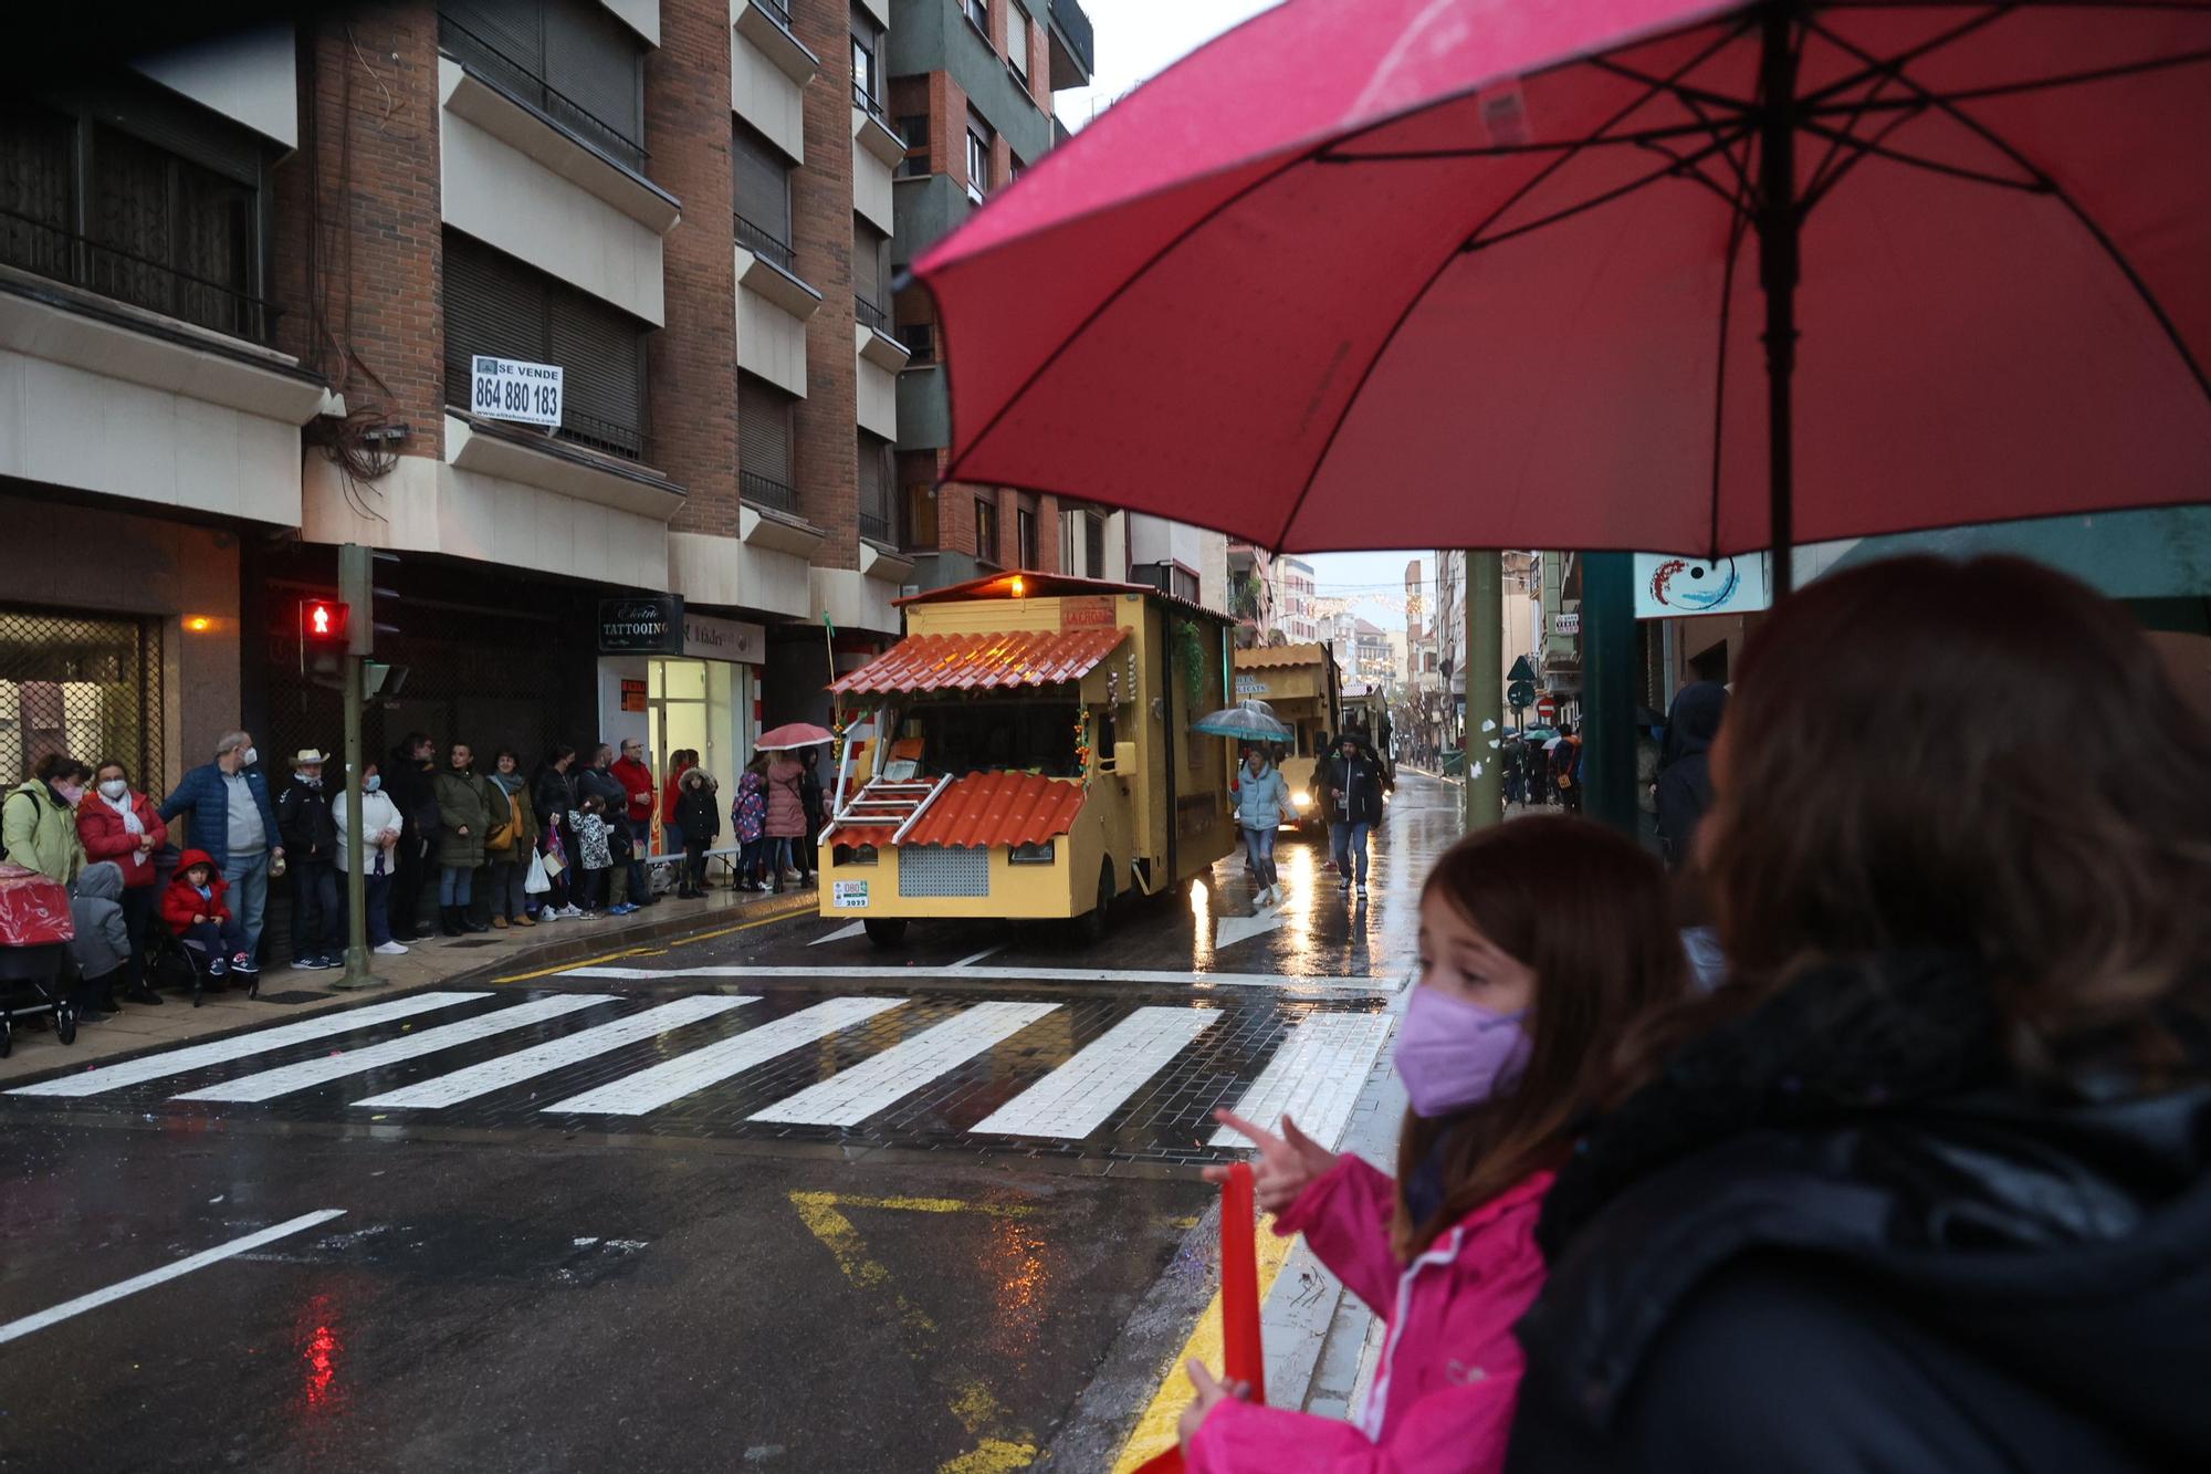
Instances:
[[[2014,558],[1831,573],[1738,673],[1731,978],[1545,1202],[1508,1467],[2211,1467],[2211,726]]]

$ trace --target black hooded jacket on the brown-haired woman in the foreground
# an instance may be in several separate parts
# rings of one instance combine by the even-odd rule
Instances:
[[[1508,1470],[2211,1470],[2211,1087],[2058,1098],[1999,1036],[1890,958],[1685,1049],[1545,1202]]]

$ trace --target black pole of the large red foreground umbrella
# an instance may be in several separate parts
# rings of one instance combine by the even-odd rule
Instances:
[[[1767,294],[1767,496],[1773,542],[1773,598],[1795,587],[1795,436],[1791,378],[1795,376],[1795,286],[1800,208],[1795,190],[1795,82],[1791,44],[1793,4],[1769,4],[1762,20],[1758,93],[1758,283]]]

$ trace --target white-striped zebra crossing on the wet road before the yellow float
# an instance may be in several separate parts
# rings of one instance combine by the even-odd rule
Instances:
[[[425,992],[0,1100],[1212,1160],[1240,1144],[1216,1107],[1338,1140],[1391,1023],[1256,996]]]

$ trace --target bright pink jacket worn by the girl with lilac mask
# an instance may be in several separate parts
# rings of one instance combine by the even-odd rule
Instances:
[[[1492,1474],[1506,1463],[1521,1350],[1512,1324],[1543,1288],[1534,1173],[1468,1213],[1413,1264],[1389,1228],[1397,1184],[1344,1153],[1278,1235],[1313,1253],[1389,1326],[1360,1423],[1251,1403],[1216,1405],[1190,1441],[1190,1474]]]

